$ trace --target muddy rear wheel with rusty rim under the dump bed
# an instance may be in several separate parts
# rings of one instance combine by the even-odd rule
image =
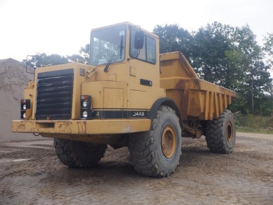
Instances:
[[[229,154],[233,151],[236,130],[233,114],[224,109],[219,118],[209,120],[205,126],[205,140],[211,152]]]

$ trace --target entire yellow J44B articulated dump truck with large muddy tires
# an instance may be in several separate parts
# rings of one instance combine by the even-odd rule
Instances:
[[[205,135],[211,152],[235,144],[236,93],[199,79],[181,52],[159,55],[159,39],[129,22],[93,29],[89,65],[35,70],[13,132],[54,138],[68,167],[91,167],[107,145],[128,147],[136,171],[172,174],[182,137]]]

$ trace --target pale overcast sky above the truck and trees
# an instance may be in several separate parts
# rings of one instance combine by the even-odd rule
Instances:
[[[213,21],[249,24],[262,43],[273,33],[273,0],[0,0],[0,59],[78,54],[92,28],[123,21],[148,31],[166,23],[189,31]]]

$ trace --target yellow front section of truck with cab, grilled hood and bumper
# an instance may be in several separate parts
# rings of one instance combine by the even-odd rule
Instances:
[[[13,122],[13,131],[54,137],[148,130],[152,105],[165,97],[159,85],[158,45],[156,35],[129,22],[93,29],[89,65],[36,69],[21,101],[22,120]],[[87,124],[77,126],[83,122]]]

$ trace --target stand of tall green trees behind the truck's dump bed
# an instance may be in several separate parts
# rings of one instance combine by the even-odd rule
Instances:
[[[214,22],[191,34],[178,25],[157,25],[153,32],[160,38],[160,53],[182,51],[201,78],[238,93],[234,111],[267,114],[272,93],[269,66],[248,25],[232,27]],[[272,35],[267,38],[267,52]]]

